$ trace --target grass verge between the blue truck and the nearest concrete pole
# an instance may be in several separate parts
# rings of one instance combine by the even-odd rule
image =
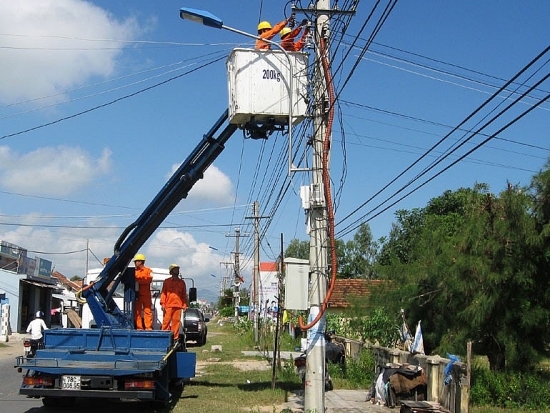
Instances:
[[[222,352],[211,353],[212,345],[221,345]],[[166,411],[173,413],[243,413],[280,412],[280,406],[290,393],[300,389],[294,366],[282,362],[276,369],[272,390],[272,369],[242,371],[226,362],[244,360],[242,350],[253,350],[244,336],[237,335],[233,326],[208,325],[208,342],[204,347],[190,347],[197,353],[197,362],[210,362],[200,367],[200,375],[188,383],[179,400]],[[213,362],[212,359],[219,359]],[[259,357],[258,359],[261,359]],[[250,358],[247,358],[250,360]],[[266,362],[267,364],[267,362]]]

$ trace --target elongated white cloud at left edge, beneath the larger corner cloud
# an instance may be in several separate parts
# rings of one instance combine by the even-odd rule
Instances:
[[[104,149],[92,159],[80,148],[66,146],[39,148],[27,154],[0,147],[0,186],[27,194],[66,195],[111,167],[111,151]]]

